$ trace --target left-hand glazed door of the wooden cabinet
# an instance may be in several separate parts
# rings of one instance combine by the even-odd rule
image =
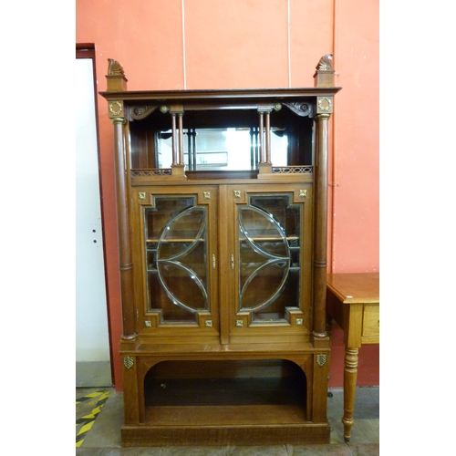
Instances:
[[[218,342],[217,187],[135,190],[140,334],[166,343]]]

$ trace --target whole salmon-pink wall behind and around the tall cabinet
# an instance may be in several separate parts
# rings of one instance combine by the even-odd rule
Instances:
[[[331,122],[328,270],[379,270],[378,0],[77,0],[76,6],[76,42],[95,44],[99,91],[106,89],[108,58],[124,67],[129,90],[287,88],[312,87],[318,60],[334,54],[343,89]],[[112,126],[101,97],[98,127],[114,381],[121,389]]]

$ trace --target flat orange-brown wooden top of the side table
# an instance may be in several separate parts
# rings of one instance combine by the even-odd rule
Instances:
[[[379,276],[379,273],[328,274],[326,285],[342,304],[379,305]]]

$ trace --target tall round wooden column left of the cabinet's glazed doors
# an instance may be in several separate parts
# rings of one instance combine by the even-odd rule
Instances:
[[[122,300],[122,339],[136,337],[135,294],[133,286],[133,264],[130,251],[130,198],[127,185],[128,166],[125,161],[123,126],[125,119],[112,119],[114,125],[114,154],[116,166],[116,196],[119,232],[119,272]]]

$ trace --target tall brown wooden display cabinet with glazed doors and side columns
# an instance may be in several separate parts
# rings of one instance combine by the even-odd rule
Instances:
[[[332,56],[313,88],[129,91],[112,59],[107,80],[122,444],[329,442]]]

